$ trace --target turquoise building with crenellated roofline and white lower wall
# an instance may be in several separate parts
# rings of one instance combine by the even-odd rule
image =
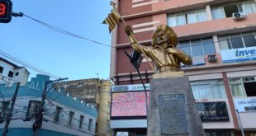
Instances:
[[[7,135],[33,135],[33,124],[38,120],[38,109],[41,94],[46,81],[50,77],[37,75],[32,77],[26,86],[20,86],[12,111],[11,123]],[[69,95],[65,90],[55,90],[48,84],[44,105],[43,123],[39,135],[51,136],[91,136],[96,134],[97,110],[87,106],[84,101]],[[0,86],[0,133],[5,126],[7,113],[10,111],[12,96],[16,90],[12,87]]]

